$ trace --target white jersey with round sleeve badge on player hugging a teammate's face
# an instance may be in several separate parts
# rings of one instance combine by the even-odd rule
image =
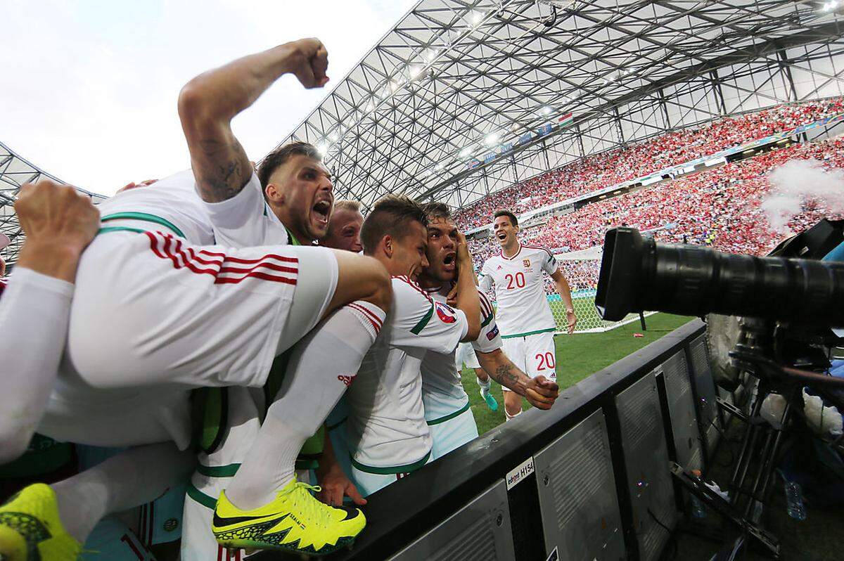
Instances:
[[[354,461],[396,467],[430,452],[419,367],[429,351],[452,353],[467,331],[463,311],[435,302],[407,277],[392,278],[392,309],[346,392]]]

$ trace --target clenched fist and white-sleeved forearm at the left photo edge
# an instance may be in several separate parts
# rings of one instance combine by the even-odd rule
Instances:
[[[79,256],[100,226],[89,197],[54,181],[21,187],[14,209],[26,241],[0,299],[0,464],[24,453],[41,422],[68,337]]]

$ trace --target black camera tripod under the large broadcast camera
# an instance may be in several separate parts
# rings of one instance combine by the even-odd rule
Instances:
[[[707,487],[701,477],[676,463],[671,465],[671,471],[679,483],[722,515],[729,526],[733,527],[722,549],[712,558],[714,561],[740,558],[749,543],[773,558],[779,558],[779,543],[776,537],[762,528],[761,517],[764,505],[771,496],[771,480],[785,434],[805,423],[803,388],[812,388],[826,402],[844,412],[844,393],[839,395],[835,391],[844,390],[844,379],[779,364],[783,357],[782,353],[776,353],[772,344],[774,332],[770,322],[747,318],[742,326],[741,341],[730,353],[733,364],[757,379],[759,384],[749,414],[728,402],[718,400],[719,407],[725,413],[746,424],[741,451],[728,487],[729,499],[722,498]],[[779,428],[771,426],[760,414],[763,402],[771,393],[780,394],[786,400]],[[835,445],[844,452],[840,440]]]

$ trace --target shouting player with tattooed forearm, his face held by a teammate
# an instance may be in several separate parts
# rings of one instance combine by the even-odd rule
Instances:
[[[419,285],[436,302],[446,303],[448,294],[457,280],[457,225],[452,220],[448,205],[432,202],[425,207],[428,216],[428,266],[419,274]],[[462,271],[461,274],[465,274]],[[472,274],[471,269],[469,274]],[[472,284],[471,290],[477,290]],[[481,328],[479,337],[472,341],[481,367],[490,373],[501,386],[519,396],[527,397],[534,407],[550,409],[559,388],[544,376],[528,378],[501,351],[501,338],[495,325],[495,310],[480,290]],[[478,438],[469,398],[463,390],[460,372],[455,366],[455,351],[437,353],[429,351],[422,359],[422,402],[425,404],[425,421],[434,441],[431,459],[436,460],[448,452]]]

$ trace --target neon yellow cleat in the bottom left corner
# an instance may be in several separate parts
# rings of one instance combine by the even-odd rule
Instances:
[[[48,485],[30,485],[0,506],[3,561],[76,561],[81,551],[62,526],[56,494]]]

